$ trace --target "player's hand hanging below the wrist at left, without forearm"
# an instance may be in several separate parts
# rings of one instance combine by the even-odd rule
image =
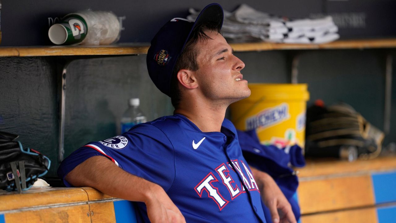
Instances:
[[[186,223],[179,208],[173,204],[161,186],[154,185],[145,201],[147,215],[152,223]]]

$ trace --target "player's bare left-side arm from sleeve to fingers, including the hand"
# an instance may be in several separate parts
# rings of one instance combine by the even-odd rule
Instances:
[[[186,222],[160,185],[127,173],[104,156],[88,158],[65,179],[73,186],[91,186],[109,196],[145,202],[152,223]]]

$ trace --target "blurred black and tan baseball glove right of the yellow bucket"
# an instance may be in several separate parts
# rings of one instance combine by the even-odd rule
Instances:
[[[343,150],[353,148],[358,158],[375,158],[384,138],[382,131],[345,103],[310,107],[306,134],[305,156],[312,157],[341,158]]]

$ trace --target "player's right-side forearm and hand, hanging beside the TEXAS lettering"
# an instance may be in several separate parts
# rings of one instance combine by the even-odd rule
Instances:
[[[267,173],[250,167],[261,192],[265,206],[270,210],[273,223],[297,223],[291,206],[286,197],[276,185],[274,179]]]

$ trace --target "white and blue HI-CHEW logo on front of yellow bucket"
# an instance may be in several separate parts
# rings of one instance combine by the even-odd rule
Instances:
[[[248,117],[246,119],[246,130],[257,128],[266,129],[289,118],[289,105],[286,103],[282,103],[273,108],[263,110],[257,115]]]

